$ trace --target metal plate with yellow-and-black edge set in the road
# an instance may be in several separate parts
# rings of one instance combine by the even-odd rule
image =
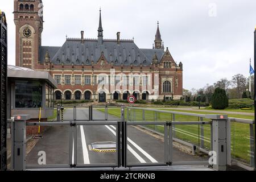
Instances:
[[[95,152],[116,152],[117,144],[115,142],[95,142],[90,144]]]

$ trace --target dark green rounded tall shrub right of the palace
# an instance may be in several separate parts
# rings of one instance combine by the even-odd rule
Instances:
[[[216,88],[212,96],[213,109],[225,109],[229,106],[228,96],[224,89]]]

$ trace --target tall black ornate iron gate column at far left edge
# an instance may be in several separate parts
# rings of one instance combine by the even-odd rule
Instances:
[[[0,10],[0,171],[7,168],[7,23]]]

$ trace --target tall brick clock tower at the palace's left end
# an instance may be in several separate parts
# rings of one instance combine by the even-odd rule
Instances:
[[[16,66],[36,69],[43,31],[42,0],[14,0]]]

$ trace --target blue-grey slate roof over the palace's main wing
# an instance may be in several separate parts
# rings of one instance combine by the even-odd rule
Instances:
[[[91,65],[100,59],[101,52],[104,53],[108,63],[114,65],[150,65],[156,53],[159,61],[164,55],[163,49],[139,49],[133,40],[104,39],[99,43],[98,39],[67,39],[62,47],[41,47],[40,61],[44,61],[46,52],[49,52],[50,60],[54,64]]]

